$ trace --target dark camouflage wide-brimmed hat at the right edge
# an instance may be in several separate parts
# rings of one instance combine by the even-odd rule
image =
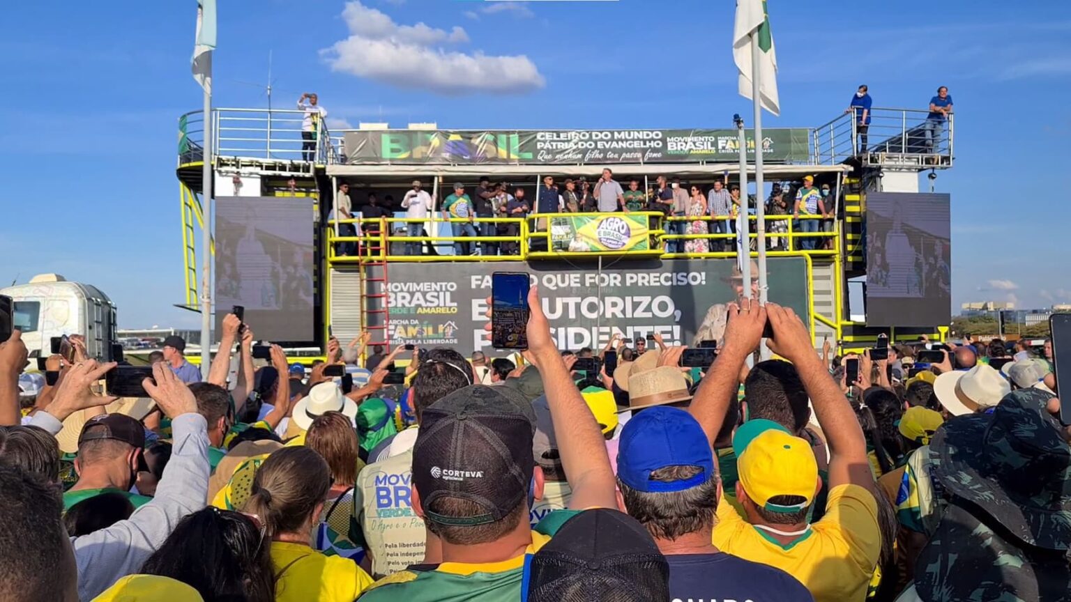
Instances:
[[[951,500],[1036,547],[1071,548],[1071,447],[1038,389],[1005,396],[993,413],[953,418],[930,446],[933,478]],[[987,600],[990,598],[986,598]]]

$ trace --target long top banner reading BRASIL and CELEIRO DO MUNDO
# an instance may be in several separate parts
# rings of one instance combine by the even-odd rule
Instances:
[[[755,154],[754,131],[745,132],[748,154]],[[390,130],[347,132],[350,164],[514,164],[577,165],[615,163],[736,162],[736,130],[552,130],[461,131]],[[763,160],[806,163],[806,129],[763,130]]]

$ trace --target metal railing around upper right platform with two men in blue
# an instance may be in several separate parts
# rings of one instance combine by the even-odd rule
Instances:
[[[814,130],[814,162],[947,168],[952,166],[954,115],[929,119],[927,109],[872,108],[863,126],[854,111]]]

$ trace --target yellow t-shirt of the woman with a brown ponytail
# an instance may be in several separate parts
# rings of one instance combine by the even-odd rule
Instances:
[[[271,563],[276,602],[353,602],[373,583],[357,562],[300,543],[273,541]]]

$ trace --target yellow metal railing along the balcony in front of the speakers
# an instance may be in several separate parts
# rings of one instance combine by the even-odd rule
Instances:
[[[329,220],[323,223],[327,257],[330,264],[360,264],[362,261],[523,261],[541,258],[584,258],[603,256],[635,256],[635,257],[735,257],[737,255],[737,234],[735,226],[726,234],[711,232],[709,227],[698,232],[684,231],[676,234],[673,224],[692,225],[696,222],[711,224],[713,222],[733,223],[736,219],[729,216],[702,217],[662,216],[651,214],[648,234],[650,244],[647,249],[607,252],[571,252],[552,249],[552,234],[546,224],[541,221],[559,214],[528,215],[527,217],[476,217],[471,222],[464,217],[443,220],[434,216],[427,220],[406,217],[352,217],[348,220]],[[560,214],[569,215],[569,214]],[[612,213],[584,213],[583,215],[599,216]],[[663,222],[664,220],[664,222]],[[749,215],[750,251],[757,251],[756,216]],[[772,256],[826,256],[835,255],[840,251],[841,223],[832,217],[820,215],[766,215],[767,250]],[[811,224],[804,224],[810,222]],[[369,228],[375,224],[378,228]],[[395,234],[394,226],[422,224],[439,227],[447,224],[471,224],[476,231],[469,236],[466,231],[457,232],[452,227],[448,234],[439,236],[408,236]],[[484,236],[480,234],[480,225],[515,225],[516,234]],[[347,226],[351,227],[349,229]],[[814,227],[814,230],[804,229]],[[426,227],[424,228],[427,229]],[[511,228],[512,229],[512,228]],[[726,227],[726,230],[729,228]],[[675,232],[675,234],[670,234]],[[670,243],[680,241],[681,249],[670,252]],[[707,249],[694,249],[689,241],[706,241]],[[537,244],[533,244],[537,243]],[[439,254],[441,245],[456,251],[462,246],[462,253]],[[428,249],[434,253],[427,253]]]

